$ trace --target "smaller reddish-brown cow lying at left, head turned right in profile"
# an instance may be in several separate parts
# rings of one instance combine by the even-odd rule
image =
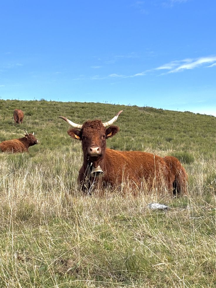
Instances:
[[[28,147],[38,144],[38,140],[34,137],[33,134],[27,133],[25,129],[23,129],[26,134],[25,137],[19,139],[6,140],[0,143],[0,151],[2,152],[28,152]]]

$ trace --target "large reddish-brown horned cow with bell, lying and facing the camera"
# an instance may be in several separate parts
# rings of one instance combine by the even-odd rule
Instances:
[[[146,185],[148,190],[157,187],[161,190],[168,189],[174,195],[184,195],[187,192],[187,174],[177,158],[106,148],[106,139],[119,132],[119,127],[112,124],[121,112],[106,123],[93,120],[82,125],[59,116],[74,127],[67,131],[70,137],[82,141],[84,159],[78,179],[82,191],[90,191],[93,181],[102,180],[103,185],[111,186],[129,181],[133,188]],[[96,179],[99,172],[103,175]]]

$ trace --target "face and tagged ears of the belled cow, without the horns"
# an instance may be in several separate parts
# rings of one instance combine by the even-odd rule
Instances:
[[[112,125],[106,129],[100,120],[94,120],[85,122],[81,130],[70,129],[67,133],[70,137],[82,141],[82,150],[89,162],[98,162],[104,157],[107,138],[118,131],[117,126]]]

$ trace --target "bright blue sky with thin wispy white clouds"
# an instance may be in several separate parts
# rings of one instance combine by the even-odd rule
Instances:
[[[1,0],[0,98],[216,116],[215,11],[215,0]]]

